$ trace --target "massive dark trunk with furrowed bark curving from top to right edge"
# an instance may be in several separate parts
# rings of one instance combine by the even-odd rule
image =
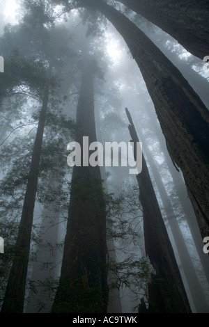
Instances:
[[[80,0],[100,10],[123,36],[153,99],[174,165],[183,172],[202,237],[209,234],[209,113],[178,69],[127,17],[100,0]]]

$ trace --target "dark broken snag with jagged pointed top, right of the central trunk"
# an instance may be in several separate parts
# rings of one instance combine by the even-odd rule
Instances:
[[[127,109],[126,113],[130,122],[128,127],[130,135],[136,145],[139,138]],[[136,160],[135,155],[134,158]],[[144,156],[142,171],[137,175],[137,182],[139,184],[139,200],[144,216],[146,255],[148,255],[150,263],[156,271],[153,282],[149,287],[148,312],[191,312]]]

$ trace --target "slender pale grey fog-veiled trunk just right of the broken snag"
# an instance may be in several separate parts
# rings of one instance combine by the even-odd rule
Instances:
[[[178,256],[180,257],[180,262],[183,266],[183,271],[185,273],[185,278],[187,280],[187,285],[189,287],[189,292],[192,296],[192,301],[194,303],[194,307],[196,312],[203,313],[209,312],[208,303],[206,301],[206,296],[203,293],[203,289],[201,288],[201,284],[199,282],[198,277],[196,276],[196,271],[194,270],[194,265],[190,258],[189,252],[187,250],[187,246],[183,239],[183,234],[179,228],[178,221],[176,220],[176,215],[173,212],[173,207],[171,205],[171,200],[167,195],[167,191],[164,187],[162,179],[160,177],[159,170],[155,164],[155,161],[146,145],[146,140],[142,134],[139,134],[139,138],[142,141],[144,153],[146,154],[148,163],[150,165],[150,169],[155,178],[155,183],[157,184],[157,189],[160,193],[160,197],[162,199],[162,204],[164,206],[164,211],[167,214],[167,219],[169,221],[169,225],[171,227],[171,232],[173,234],[173,238],[176,244],[176,248],[178,250]]]

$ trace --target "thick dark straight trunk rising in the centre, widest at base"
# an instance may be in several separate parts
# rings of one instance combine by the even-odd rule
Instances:
[[[83,136],[88,136],[89,143],[96,141],[91,70],[93,67],[84,67],[77,106],[77,142],[80,145]],[[81,147],[83,152],[85,147]],[[89,156],[82,157],[87,165]],[[105,216],[100,167],[85,163],[74,166],[61,278],[52,312],[107,312]]]

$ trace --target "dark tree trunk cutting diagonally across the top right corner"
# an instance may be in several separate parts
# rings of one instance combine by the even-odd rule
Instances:
[[[117,0],[175,38],[194,56],[209,55],[207,0]]]

